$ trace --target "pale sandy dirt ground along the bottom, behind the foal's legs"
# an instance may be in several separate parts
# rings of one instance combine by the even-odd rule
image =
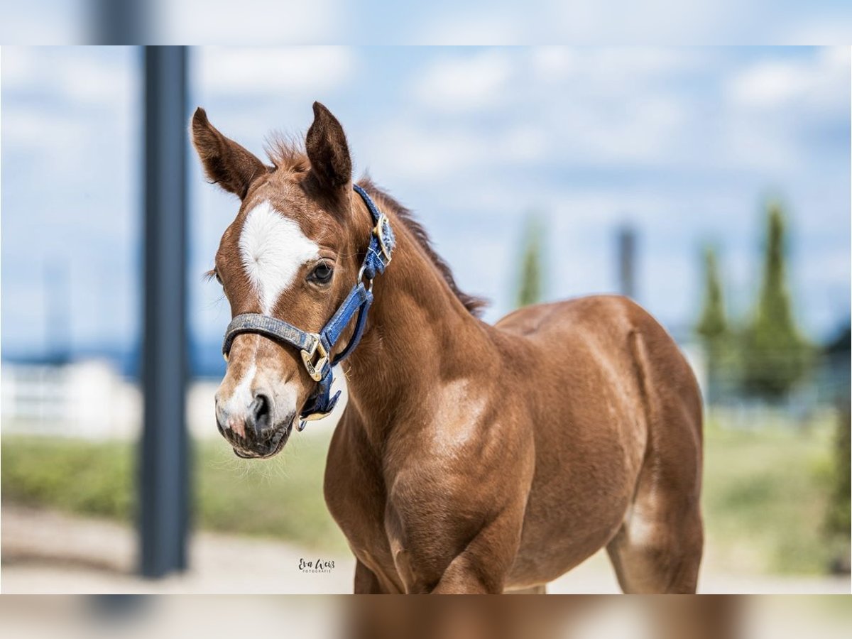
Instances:
[[[136,538],[131,527],[41,509],[3,505],[2,573],[5,593],[269,593],[352,591],[351,556],[317,553],[268,539],[195,533],[190,569],[165,579],[134,574]],[[324,573],[300,562],[333,561]],[[850,581],[832,577],[717,574],[705,558],[699,591],[705,593],[849,593]],[[598,553],[548,585],[550,593],[619,592],[605,553]]]

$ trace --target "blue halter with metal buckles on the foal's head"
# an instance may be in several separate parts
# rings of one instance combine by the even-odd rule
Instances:
[[[394,232],[390,227],[388,216],[378,210],[375,203],[367,192],[354,184],[355,193],[361,196],[367,209],[370,210],[374,227],[370,234],[370,245],[364,257],[364,263],[358,272],[358,283],[349,291],[346,299],[337,308],[337,312],[328,320],[328,324],[319,333],[309,333],[288,324],[284,320],[257,313],[245,313],[237,315],[227,325],[225,341],[222,343],[222,355],[227,361],[231,352],[233,338],[243,333],[256,333],[268,337],[275,342],[290,344],[299,349],[302,354],[302,362],[308,371],[308,375],[317,382],[317,388],[308,397],[302,412],[299,414],[299,430],[305,428],[308,420],[320,419],[328,415],[337,404],[340,397],[338,390],[331,396],[331,382],[334,377],[331,373],[332,366],[337,366],[352,353],[364,334],[367,311],[372,303],[372,280],[377,273],[384,273],[390,263],[390,255],[394,250]],[[366,285],[364,284],[366,280]],[[331,349],[337,344],[343,330],[358,314],[355,322],[355,331],[352,339],[343,350],[331,357]]]

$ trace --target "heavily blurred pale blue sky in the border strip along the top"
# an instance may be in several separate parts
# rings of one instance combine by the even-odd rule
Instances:
[[[95,42],[95,0],[5,3],[3,43]],[[846,0],[149,0],[148,43],[842,44]]]

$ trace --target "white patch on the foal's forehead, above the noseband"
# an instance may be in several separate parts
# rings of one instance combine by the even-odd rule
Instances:
[[[239,235],[239,254],[261,304],[271,314],[275,302],[296,279],[302,264],[316,260],[320,247],[298,223],[281,215],[269,202],[258,204],[245,217]]]

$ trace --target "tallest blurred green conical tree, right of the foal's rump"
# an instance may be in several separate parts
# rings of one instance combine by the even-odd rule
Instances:
[[[779,400],[803,377],[811,348],[797,330],[786,285],[786,239],[780,204],[769,204],[763,282],[757,308],[742,341],[747,393]]]

